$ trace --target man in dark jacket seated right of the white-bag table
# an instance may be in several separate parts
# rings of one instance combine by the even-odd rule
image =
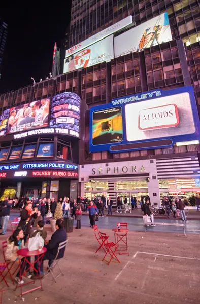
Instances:
[[[55,227],[56,227],[56,231],[52,235],[51,240],[46,241],[45,247],[47,248],[47,251],[45,252],[43,260],[40,264],[40,273],[42,278],[44,277],[43,261],[49,260],[48,264],[50,267],[57,255],[57,251],[60,243],[66,241],[67,239],[66,230],[64,229],[64,222],[62,219],[56,220]],[[64,256],[64,251],[65,251],[65,247],[60,249],[57,259],[60,259]],[[31,277],[31,279],[33,280],[40,279],[40,276],[34,275]]]

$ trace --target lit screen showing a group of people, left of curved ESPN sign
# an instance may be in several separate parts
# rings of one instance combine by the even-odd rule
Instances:
[[[50,99],[44,98],[10,108],[7,134],[47,127]]]

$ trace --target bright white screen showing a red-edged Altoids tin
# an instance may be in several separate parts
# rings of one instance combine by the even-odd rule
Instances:
[[[189,93],[127,104],[125,116],[128,141],[195,132]]]

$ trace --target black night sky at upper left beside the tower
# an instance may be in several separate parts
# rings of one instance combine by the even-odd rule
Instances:
[[[8,24],[0,94],[32,84],[30,77],[36,82],[49,77],[54,44],[60,46],[71,15],[71,0],[54,5],[21,1],[19,7],[7,3],[0,11],[0,18]]]

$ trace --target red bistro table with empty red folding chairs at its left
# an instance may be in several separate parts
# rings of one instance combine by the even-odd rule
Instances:
[[[129,231],[129,229],[121,228],[119,230],[118,228],[113,228],[112,231],[114,231],[114,234],[115,234],[115,244],[118,245],[116,253],[129,255],[129,252],[128,252],[128,231]]]

